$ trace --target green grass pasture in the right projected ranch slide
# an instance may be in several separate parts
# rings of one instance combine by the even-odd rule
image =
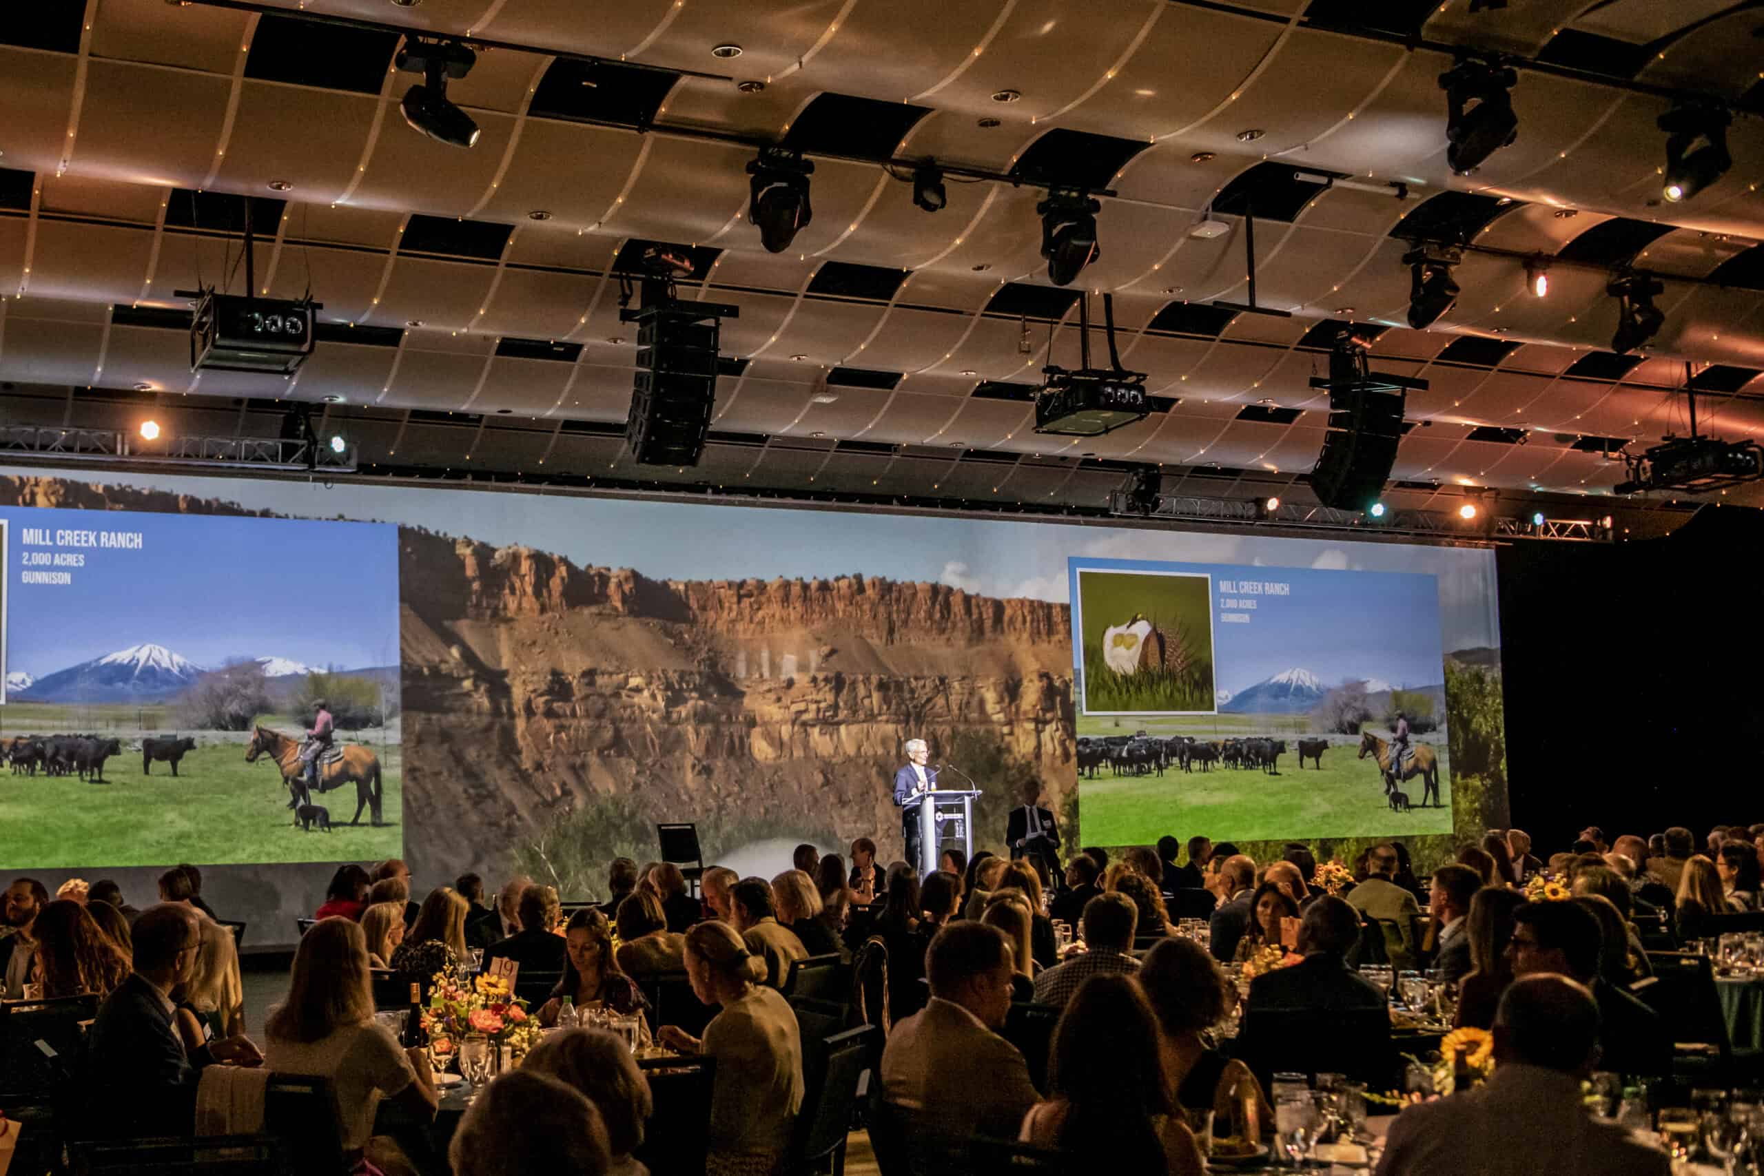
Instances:
[[[1270,723],[1274,716],[1219,718],[1245,719],[1240,733],[1275,733]],[[1198,721],[1184,719],[1184,723]],[[1083,721],[1080,733],[1132,733],[1113,728],[1090,730],[1092,726],[1101,723]],[[1138,723],[1134,730],[1140,726],[1159,733],[1152,723]],[[1184,733],[1200,737],[1201,732]],[[1293,739],[1284,732],[1277,737],[1293,748]],[[1162,776],[1113,776],[1104,767],[1095,779],[1078,779],[1083,837],[1087,845],[1150,845],[1170,832],[1178,836],[1205,832],[1214,841],[1238,843],[1452,832],[1452,779],[1443,744],[1434,746],[1434,753],[1439,756],[1439,799],[1445,808],[1415,808],[1409,813],[1390,811],[1378,767],[1371,760],[1355,758],[1357,751],[1358,741],[1332,746],[1323,753],[1321,770],[1300,769],[1297,751],[1288,751],[1281,756],[1277,776],[1217,765],[1210,772],[1170,767]],[[1420,778],[1402,788],[1409,802],[1418,806]]]

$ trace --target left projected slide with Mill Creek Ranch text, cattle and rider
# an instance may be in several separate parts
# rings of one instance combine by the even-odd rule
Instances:
[[[0,524],[0,867],[400,852],[397,527],[41,508]],[[319,700],[342,758],[310,795],[326,822],[296,823],[284,776]]]

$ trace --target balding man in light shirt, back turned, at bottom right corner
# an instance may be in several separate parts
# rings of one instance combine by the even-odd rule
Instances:
[[[1563,903],[1542,903],[1563,906]],[[1515,980],[1494,1017],[1494,1074],[1468,1093],[1402,1107],[1376,1176],[1667,1176],[1665,1153],[1586,1113],[1598,1005],[1573,980]]]

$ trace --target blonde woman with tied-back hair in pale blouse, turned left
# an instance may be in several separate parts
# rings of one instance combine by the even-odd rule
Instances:
[[[707,1172],[771,1172],[803,1109],[803,1040],[789,1001],[764,984],[766,961],[727,922],[686,933],[686,975],[706,1005],[721,1005],[704,1038],[669,1024],[663,1046],[716,1058]],[[658,1174],[660,1176],[660,1174]]]

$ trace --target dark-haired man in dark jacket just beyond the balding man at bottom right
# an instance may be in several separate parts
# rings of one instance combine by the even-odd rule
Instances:
[[[1602,931],[1581,903],[1528,903],[1514,912],[1506,945],[1514,977],[1554,971],[1586,984],[1598,1003],[1600,1068],[1663,1076],[1672,1067],[1672,1042],[1660,1016],[1598,975]]]

